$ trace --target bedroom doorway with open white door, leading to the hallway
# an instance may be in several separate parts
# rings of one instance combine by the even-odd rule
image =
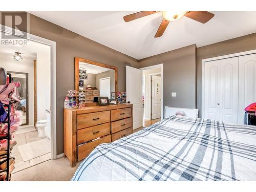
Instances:
[[[153,76],[156,76],[153,77]],[[152,102],[152,77],[155,86]],[[159,82],[160,80],[160,82]],[[133,104],[133,129],[140,130],[163,119],[163,65],[136,69],[125,66],[126,101]],[[160,101],[159,101],[160,98]],[[152,113],[153,105],[153,113]],[[160,112],[159,112],[160,109]]]

